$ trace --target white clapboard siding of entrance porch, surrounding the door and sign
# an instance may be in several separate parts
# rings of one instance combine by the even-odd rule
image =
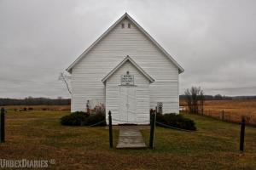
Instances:
[[[134,114],[133,121],[137,122],[137,124],[148,124],[149,81],[130,61],[126,61],[106,82],[106,110],[112,112],[113,124],[125,123],[115,120],[122,120],[119,113],[119,88],[121,88],[119,84],[121,75],[125,75],[126,71],[129,71],[129,74],[134,76],[134,84],[136,86],[136,114]]]

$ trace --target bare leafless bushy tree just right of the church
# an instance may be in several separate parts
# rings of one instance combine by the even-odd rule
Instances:
[[[200,111],[203,111],[205,98],[203,90],[201,90],[200,87],[188,88],[184,94],[186,96],[186,102],[190,113],[199,113]]]

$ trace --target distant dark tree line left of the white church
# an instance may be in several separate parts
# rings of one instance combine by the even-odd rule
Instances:
[[[0,105],[70,105],[70,99],[49,99],[32,97],[28,97],[25,99],[0,98]]]

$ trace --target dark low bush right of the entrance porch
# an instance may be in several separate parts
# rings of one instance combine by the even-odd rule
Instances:
[[[186,130],[196,130],[195,122],[189,118],[184,118],[182,115],[176,115],[173,113],[156,115],[156,122],[166,124],[171,127],[182,128]],[[160,124],[157,124],[161,126]],[[164,127],[164,126],[162,126]]]

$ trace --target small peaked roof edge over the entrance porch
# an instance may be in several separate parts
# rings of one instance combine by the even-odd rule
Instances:
[[[131,59],[131,57],[130,57],[129,55],[127,55],[127,56],[125,57],[125,59],[123,59],[123,60],[119,63],[119,65],[116,65],[116,66],[113,68],[113,70],[110,71],[110,72],[108,73],[108,75],[102,79],[102,82],[105,83],[105,82],[108,80],[108,78],[113,75],[113,73],[114,73],[115,71],[118,71],[119,68],[120,68],[122,65],[124,65],[124,64],[126,63],[126,61],[130,61],[131,64],[132,64],[133,66],[135,66],[135,67],[137,68],[137,70],[140,71],[140,72],[143,74],[143,76],[148,79],[148,81],[149,81],[150,83],[151,83],[151,82],[154,82],[154,79],[153,79],[152,77],[150,77],[147,72],[143,71],[143,69],[142,69],[139,65],[137,65],[137,63],[136,63],[133,59]]]

